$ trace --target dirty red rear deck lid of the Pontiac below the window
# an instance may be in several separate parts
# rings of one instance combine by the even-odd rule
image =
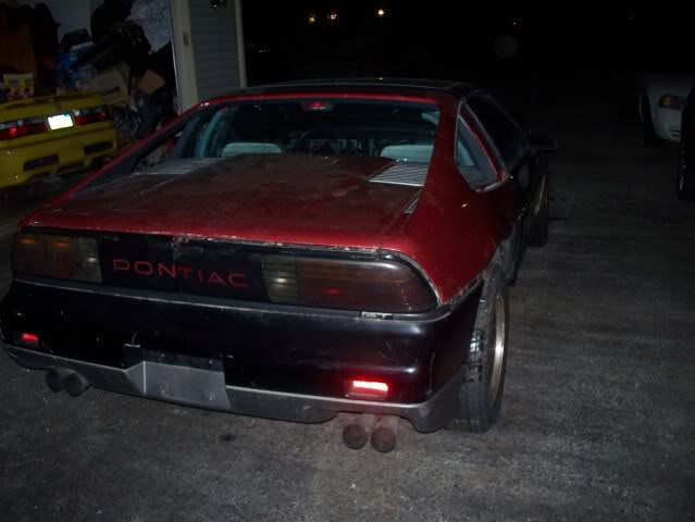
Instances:
[[[166,164],[83,191],[32,226],[378,248],[420,188],[372,183],[384,158],[245,156],[174,174]],[[174,165],[174,163],[172,163]]]

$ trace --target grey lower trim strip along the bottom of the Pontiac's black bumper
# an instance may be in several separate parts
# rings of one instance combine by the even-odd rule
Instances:
[[[325,422],[339,412],[376,413],[408,419],[415,430],[444,427],[457,413],[462,374],[451,378],[435,396],[421,403],[374,402],[226,386],[223,372],[141,362],[127,370],[64,359],[5,345],[20,364],[34,370],[67,369],[79,373],[97,388],[176,402],[294,422]]]

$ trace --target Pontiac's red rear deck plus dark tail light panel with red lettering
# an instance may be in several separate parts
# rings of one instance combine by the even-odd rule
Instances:
[[[187,162],[36,214],[18,239],[15,271],[278,304],[383,312],[434,306],[422,274],[380,251],[385,232],[407,221],[418,198],[417,169],[303,154]],[[420,171],[424,183],[426,165]]]

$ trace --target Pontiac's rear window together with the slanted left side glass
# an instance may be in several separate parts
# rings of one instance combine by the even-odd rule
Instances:
[[[215,104],[176,122],[80,191],[132,175],[185,175],[215,158],[248,154],[382,157],[426,166],[438,124],[438,108],[419,102],[320,98]]]

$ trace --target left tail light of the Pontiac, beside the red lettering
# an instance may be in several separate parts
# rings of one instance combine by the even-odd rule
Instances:
[[[91,238],[18,234],[12,269],[30,275],[101,283],[97,240]]]

